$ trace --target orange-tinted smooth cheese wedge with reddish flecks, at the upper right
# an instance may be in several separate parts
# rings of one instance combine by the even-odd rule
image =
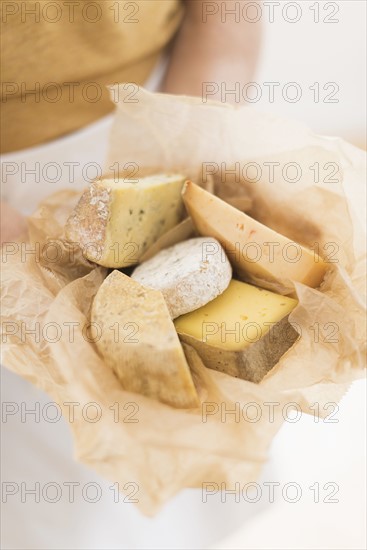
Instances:
[[[314,251],[192,182],[186,182],[182,194],[197,231],[218,239],[239,279],[281,294],[294,292],[293,281],[313,288],[321,284],[328,264]]]

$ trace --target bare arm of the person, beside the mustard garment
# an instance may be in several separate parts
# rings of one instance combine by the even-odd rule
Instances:
[[[261,22],[250,22],[241,2],[185,0],[161,91],[204,101],[245,103],[261,44]],[[232,13],[230,13],[232,10]],[[244,93],[245,90],[245,93]]]

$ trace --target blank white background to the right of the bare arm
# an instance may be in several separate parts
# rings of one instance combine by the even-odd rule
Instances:
[[[268,101],[268,91],[256,105],[261,110],[297,118],[306,122],[315,132],[341,137],[362,146],[365,144],[366,120],[366,5],[364,0],[339,2],[298,1],[301,18],[288,23],[282,16],[297,17],[295,8],[284,8],[292,2],[281,1],[274,7],[274,22],[269,21],[269,9],[263,7],[264,43],[256,82],[280,82],[275,88],[274,103]],[[315,11],[319,5],[320,22],[315,23]],[[334,6],[338,12],[332,16]],[[249,12],[249,17],[251,12]],[[338,23],[324,22],[327,18]],[[290,103],[283,99],[283,86],[297,82],[302,87],[300,101]],[[309,89],[320,84],[320,101],[314,102],[314,92]],[[335,82],[339,91],[337,103],[326,103],[323,90],[328,82]],[[251,90],[249,89],[249,92]],[[254,94],[255,90],[252,90]],[[289,95],[295,90],[289,89]],[[254,97],[254,96],[253,96]]]

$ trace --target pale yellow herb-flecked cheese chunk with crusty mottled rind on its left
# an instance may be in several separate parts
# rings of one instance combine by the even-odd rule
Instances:
[[[183,217],[184,177],[158,174],[129,181],[102,179],[83,193],[65,228],[88,260],[105,267],[137,264]]]

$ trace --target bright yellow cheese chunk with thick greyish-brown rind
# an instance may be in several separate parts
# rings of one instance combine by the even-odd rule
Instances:
[[[293,298],[232,280],[215,300],[174,323],[206,367],[260,382],[298,338],[288,322],[296,305]]]

